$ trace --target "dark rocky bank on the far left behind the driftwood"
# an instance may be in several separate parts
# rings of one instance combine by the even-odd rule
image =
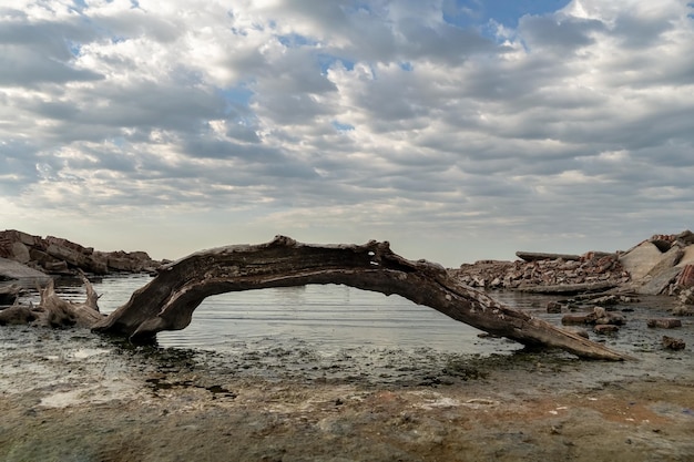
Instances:
[[[144,251],[98,251],[60,237],[42,238],[14,229],[0,232],[0,257],[51,275],[152,273],[161,266]]]

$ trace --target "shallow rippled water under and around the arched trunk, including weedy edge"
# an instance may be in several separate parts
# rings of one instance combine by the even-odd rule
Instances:
[[[101,310],[111,312],[149,280],[147,276],[94,280],[95,290],[102,295],[99,301]],[[80,281],[62,280],[59,291],[65,298],[80,300],[84,297]],[[561,325],[563,315],[550,315],[545,310],[547,302],[557,300],[557,296],[516,291],[496,291],[491,296],[513,308]],[[622,311],[626,325],[614,335],[591,332],[592,340],[639,359],[629,368],[620,368],[619,376],[676,378],[694,368],[694,356],[691,355],[694,347],[693,318],[682,318],[683,327],[676,329],[645,327],[649,318],[669,316],[667,309],[672,304],[673,299],[669,297],[645,297],[635,304],[613,307]],[[251,365],[248,372],[262,374],[280,369],[294,374],[333,368],[336,377],[361,374],[365,370],[371,377],[394,377],[394,356],[407,362],[397,367],[406,372],[408,368],[422,369],[422,365],[431,362],[446,366],[447,361],[463,357],[516,356],[514,352],[522,351],[519,343],[500,338],[481,338],[480,333],[470,326],[399,296],[387,297],[346,286],[310,285],[210,297],[194,312],[191,326],[181,331],[161,332],[157,337],[161,347],[222,353],[232,362]],[[663,349],[664,335],[683,339],[687,348],[684,351]],[[433,360],[437,356],[439,360]],[[564,353],[554,356],[560,360],[569,357]],[[350,367],[345,366],[348,362]],[[594,369],[594,372],[602,369],[588,368]],[[581,368],[585,369],[586,366]],[[600,377],[602,373],[594,376],[596,380]]]

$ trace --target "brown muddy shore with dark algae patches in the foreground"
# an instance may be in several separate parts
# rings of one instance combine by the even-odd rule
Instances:
[[[220,353],[6,327],[0,460],[694,461],[693,331],[677,329],[683,351],[623,331],[640,360],[614,363],[300,340]]]

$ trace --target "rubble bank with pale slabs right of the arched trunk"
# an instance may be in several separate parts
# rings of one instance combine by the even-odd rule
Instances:
[[[627,251],[581,256],[519,251],[520,260],[481,260],[451,269],[463,284],[484,289],[580,294],[619,288],[641,295],[694,299],[694,233],[655,235]]]

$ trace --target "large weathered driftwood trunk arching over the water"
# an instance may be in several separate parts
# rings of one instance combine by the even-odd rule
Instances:
[[[392,253],[387,242],[376,240],[320,246],[277,236],[267,244],[200,251],[163,267],[125,305],[99,321],[94,330],[147,342],[154,340],[156,332],[188,326],[193,311],[208,296],[307,284],[344,284],[385,295],[398,294],[523,345],[558,347],[583,358],[629,358],[504,306],[462,285],[440,265],[407,260]]]

